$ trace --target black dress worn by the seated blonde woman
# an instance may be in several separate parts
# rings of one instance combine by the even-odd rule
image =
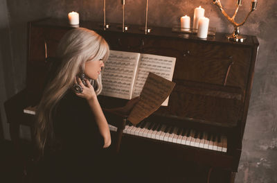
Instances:
[[[55,148],[40,162],[39,182],[104,182],[104,141],[86,99],[66,92],[55,109],[53,130]]]

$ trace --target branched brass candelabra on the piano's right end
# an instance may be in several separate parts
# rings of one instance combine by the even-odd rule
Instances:
[[[222,4],[221,4],[220,0],[213,0],[213,4],[215,4],[215,6],[220,8],[220,10],[221,10],[222,14],[224,15],[224,17],[226,17],[226,19],[228,19],[228,21],[230,21],[230,23],[234,27],[233,33],[231,35],[226,35],[227,39],[228,40],[232,40],[234,42],[244,42],[247,38],[242,36],[242,35],[240,35],[240,26],[242,26],[245,23],[245,21],[247,21],[247,18],[249,17],[251,12],[256,10],[256,8],[257,8],[257,1],[255,1],[255,0],[251,1],[251,10],[247,14],[247,17],[245,17],[244,21],[242,21],[240,24],[235,22],[235,15],[237,15],[238,9],[240,8],[240,6],[242,6],[242,0],[237,0],[237,5],[236,5],[237,7],[235,9],[233,17],[229,17],[229,15],[227,15],[227,13],[224,11],[224,9],[222,7]]]

